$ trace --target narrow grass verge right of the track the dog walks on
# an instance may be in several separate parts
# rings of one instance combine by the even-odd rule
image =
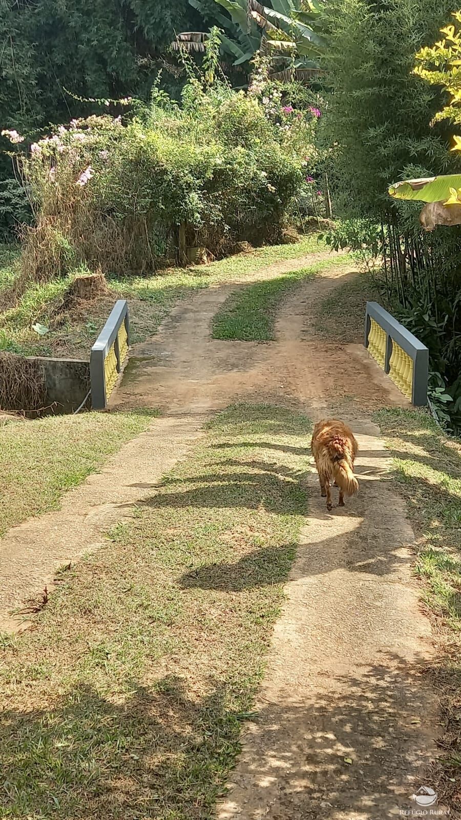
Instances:
[[[433,670],[445,737],[431,785],[454,806],[461,780],[461,442],[426,412],[381,410],[376,420],[393,457],[393,477],[417,536],[414,565],[422,600],[445,652]]]

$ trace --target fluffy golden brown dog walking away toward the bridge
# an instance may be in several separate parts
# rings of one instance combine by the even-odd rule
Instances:
[[[345,506],[345,495],[354,495],[358,491],[358,481],[354,476],[354,459],[358,453],[358,444],[354,434],[344,421],[331,418],[318,421],[313,428],[311,443],[322,498],[326,497],[326,509],[331,510],[330,481],[340,488],[339,506]]]

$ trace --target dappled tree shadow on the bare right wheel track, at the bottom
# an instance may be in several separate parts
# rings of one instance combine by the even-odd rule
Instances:
[[[328,660],[320,690],[301,685],[274,700],[269,685],[267,700],[262,688],[232,776],[232,811],[225,804],[220,818],[242,809],[257,817],[258,806],[270,805],[274,818],[381,820],[418,809],[412,795],[423,784],[439,790],[438,804],[450,804],[453,786],[429,771],[437,713],[418,658],[383,653],[381,663],[358,665],[354,674],[335,672]]]

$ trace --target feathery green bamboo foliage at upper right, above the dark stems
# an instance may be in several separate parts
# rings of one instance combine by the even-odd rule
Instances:
[[[326,139],[335,145],[336,202],[379,216],[387,187],[409,166],[450,167],[446,130],[429,125],[440,95],[413,73],[414,54],[434,38],[450,0],[332,0],[324,61],[331,89]]]

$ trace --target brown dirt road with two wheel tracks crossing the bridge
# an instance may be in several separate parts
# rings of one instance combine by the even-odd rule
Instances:
[[[299,266],[307,262],[299,260]],[[150,459],[150,492],[155,478],[199,435],[203,419],[231,402],[285,403],[313,421],[334,412],[358,436],[361,490],[345,509],[327,513],[317,476],[308,476],[307,525],[273,635],[258,719],[246,724],[219,820],[398,816],[414,806],[410,795],[435,754],[436,706],[421,676],[431,658],[431,632],[410,572],[413,533],[387,481],[386,451],[370,421],[372,409],[406,402],[361,344],[342,346],[313,331],[316,303],[354,275],[336,266],[307,281],[281,308],[276,342],[269,344],[210,338],[210,321],[235,284],[195,294],[132,351],[112,402],[117,408],[162,409],[163,419],[141,437]],[[143,498],[137,441],[67,497],[48,522],[28,522],[3,539],[2,567],[9,556],[13,586],[15,555],[17,567],[21,561],[30,566],[31,543],[34,549],[39,544],[43,559],[40,583],[52,572],[55,556],[48,550],[45,559],[47,528],[69,532],[78,499],[81,553]],[[113,503],[112,480],[121,465],[129,479],[119,481]],[[61,549],[59,556],[64,558]],[[30,574],[28,585],[34,585]]]

